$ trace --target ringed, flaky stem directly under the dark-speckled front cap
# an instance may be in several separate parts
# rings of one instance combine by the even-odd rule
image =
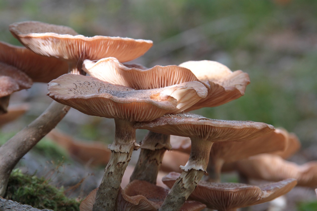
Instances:
[[[97,190],[93,211],[115,209],[123,173],[131,159],[132,151],[138,148],[134,123],[119,119],[114,119],[114,122],[114,141],[109,146],[112,151],[111,158]]]

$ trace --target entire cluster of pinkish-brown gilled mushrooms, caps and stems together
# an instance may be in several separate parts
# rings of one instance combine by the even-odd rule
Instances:
[[[58,124],[70,107],[87,115],[113,118],[115,122],[115,137],[109,150],[102,144],[97,146],[103,158],[95,162],[107,166],[98,189],[82,202],[82,211],[202,210],[206,206],[232,210],[270,201],[287,193],[299,180],[300,173],[279,175],[274,181],[280,182],[259,187],[220,182],[226,164],[249,177],[262,178],[260,170],[251,174],[246,170],[249,167],[243,168],[259,163],[253,162],[257,158],[248,157],[282,153],[289,145],[288,132],[272,125],[187,113],[243,96],[250,82],[247,73],[232,72],[219,62],[206,60],[152,68],[123,63],[145,54],[152,46],[150,40],[85,37],[66,26],[36,21],[14,23],[9,29],[25,48],[0,42],[0,81],[4,82],[0,86],[0,113],[6,112],[10,93],[27,89],[32,82],[49,82],[48,96],[54,101],[34,122],[1,146],[0,195],[5,193],[8,175],[17,161]],[[140,145],[135,138],[137,129],[149,130]],[[70,151],[89,148],[87,144],[70,141],[63,144]],[[122,189],[124,172],[133,151],[139,148],[130,183]],[[165,152],[172,149],[171,152],[187,153],[184,163],[178,164],[183,157],[178,156],[177,160],[166,162],[170,166],[166,165],[164,160],[170,152]],[[85,150],[76,151],[83,161],[95,156]],[[164,179],[170,190],[157,186],[160,169],[179,170],[175,165],[180,165],[181,174]],[[311,165],[290,168],[307,169]],[[206,181],[201,181],[203,178]],[[311,182],[309,179],[306,181]],[[206,200],[200,189],[217,189],[217,194],[209,192]]]

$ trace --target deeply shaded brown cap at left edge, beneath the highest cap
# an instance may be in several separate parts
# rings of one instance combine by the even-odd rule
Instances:
[[[56,58],[38,55],[25,47],[0,42],[0,62],[16,67],[34,82],[45,82],[68,72],[68,64]]]

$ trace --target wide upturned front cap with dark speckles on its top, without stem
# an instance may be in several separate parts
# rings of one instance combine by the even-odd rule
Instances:
[[[88,115],[131,122],[151,121],[165,113],[178,112],[183,105],[183,109],[191,106],[187,99],[197,95],[192,85],[206,91],[197,81],[160,89],[135,90],[94,77],[65,74],[49,83],[48,95]]]

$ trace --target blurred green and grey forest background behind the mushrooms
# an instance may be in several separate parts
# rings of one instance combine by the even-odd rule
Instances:
[[[317,160],[316,0],[0,0],[0,40],[21,45],[13,22],[37,20],[86,36],[149,39],[153,47],[133,62],[146,67],[213,60],[250,76],[245,96],[195,111],[208,118],[253,120],[294,132],[302,143],[297,163]],[[43,70],[45,71],[45,70]],[[2,128],[15,133],[49,105],[47,85],[12,95],[30,110]],[[84,139],[111,143],[113,120],[74,109],[57,126]],[[140,141],[145,131],[137,131]],[[105,140],[106,139],[106,140]]]

